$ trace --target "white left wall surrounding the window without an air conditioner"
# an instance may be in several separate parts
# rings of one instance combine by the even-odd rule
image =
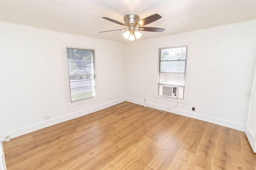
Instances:
[[[16,137],[125,101],[123,43],[0,23],[1,136]],[[67,108],[62,43],[96,48],[100,100]],[[51,119],[44,121],[48,114]]]

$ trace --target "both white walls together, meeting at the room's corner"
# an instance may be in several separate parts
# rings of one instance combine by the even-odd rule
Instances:
[[[174,106],[174,102],[154,98],[157,47],[182,42],[191,43],[188,103],[168,111],[244,131],[246,92],[256,58],[256,20],[134,41],[133,45],[0,24],[1,137],[16,137],[125,100],[143,105],[146,97],[150,107]],[[67,109],[62,43],[96,48],[100,100]],[[44,121],[48,114],[51,119]]]

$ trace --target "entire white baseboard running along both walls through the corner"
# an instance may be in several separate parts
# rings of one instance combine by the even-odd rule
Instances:
[[[71,120],[71,119],[74,119],[74,118],[77,118],[77,117],[80,117],[80,116],[83,116],[83,115],[87,115],[87,114],[93,113],[95,111],[99,111],[101,109],[105,109],[107,107],[114,106],[116,104],[119,104],[119,103],[125,102],[125,101],[132,102],[134,104],[139,104],[139,105],[144,106],[143,101],[133,100],[133,99],[129,99],[129,98],[122,98],[120,100],[115,100],[115,101],[112,101],[112,102],[108,102],[106,104],[102,104],[102,105],[98,105],[98,106],[95,106],[95,107],[86,108],[86,109],[78,111],[78,112],[70,113],[70,114],[64,115],[62,117],[56,117],[56,118],[50,119],[48,121],[43,121],[43,122],[40,122],[40,123],[37,123],[37,124],[34,124],[34,125],[30,125],[30,126],[27,126],[27,127],[16,129],[15,131],[10,131],[10,132],[1,134],[0,137],[4,137],[4,136],[7,136],[7,135],[10,135],[11,138],[18,137],[18,136],[24,135],[26,133],[30,133],[30,132],[33,132],[33,131],[36,131],[36,130],[39,130],[39,129],[42,129],[42,128],[45,128],[45,127],[48,127],[48,126],[51,126],[51,125],[55,125],[57,123],[61,123],[61,122],[68,121],[68,120]],[[146,102],[146,106],[152,107],[152,108],[155,108],[155,109],[159,109],[159,110],[163,110],[163,111],[166,110],[165,106],[151,104],[151,103],[148,103],[148,102]],[[224,119],[219,119],[219,118],[216,118],[216,117],[209,117],[209,116],[206,116],[206,115],[201,115],[201,114],[198,114],[198,113],[192,113],[190,111],[184,111],[184,110],[180,110],[180,109],[176,109],[176,108],[168,109],[168,112],[172,112],[172,113],[175,113],[175,114],[178,114],[178,115],[183,115],[183,116],[186,116],[186,117],[191,117],[191,118],[202,120],[202,121],[207,121],[207,122],[210,122],[210,123],[215,123],[217,125],[222,125],[222,126],[225,126],[225,127],[230,127],[232,129],[236,129],[236,130],[243,131],[243,132],[245,131],[245,125],[242,125],[242,124],[239,124],[239,123],[236,123],[236,122],[232,122],[232,121],[228,121],[228,120],[224,120]]]

